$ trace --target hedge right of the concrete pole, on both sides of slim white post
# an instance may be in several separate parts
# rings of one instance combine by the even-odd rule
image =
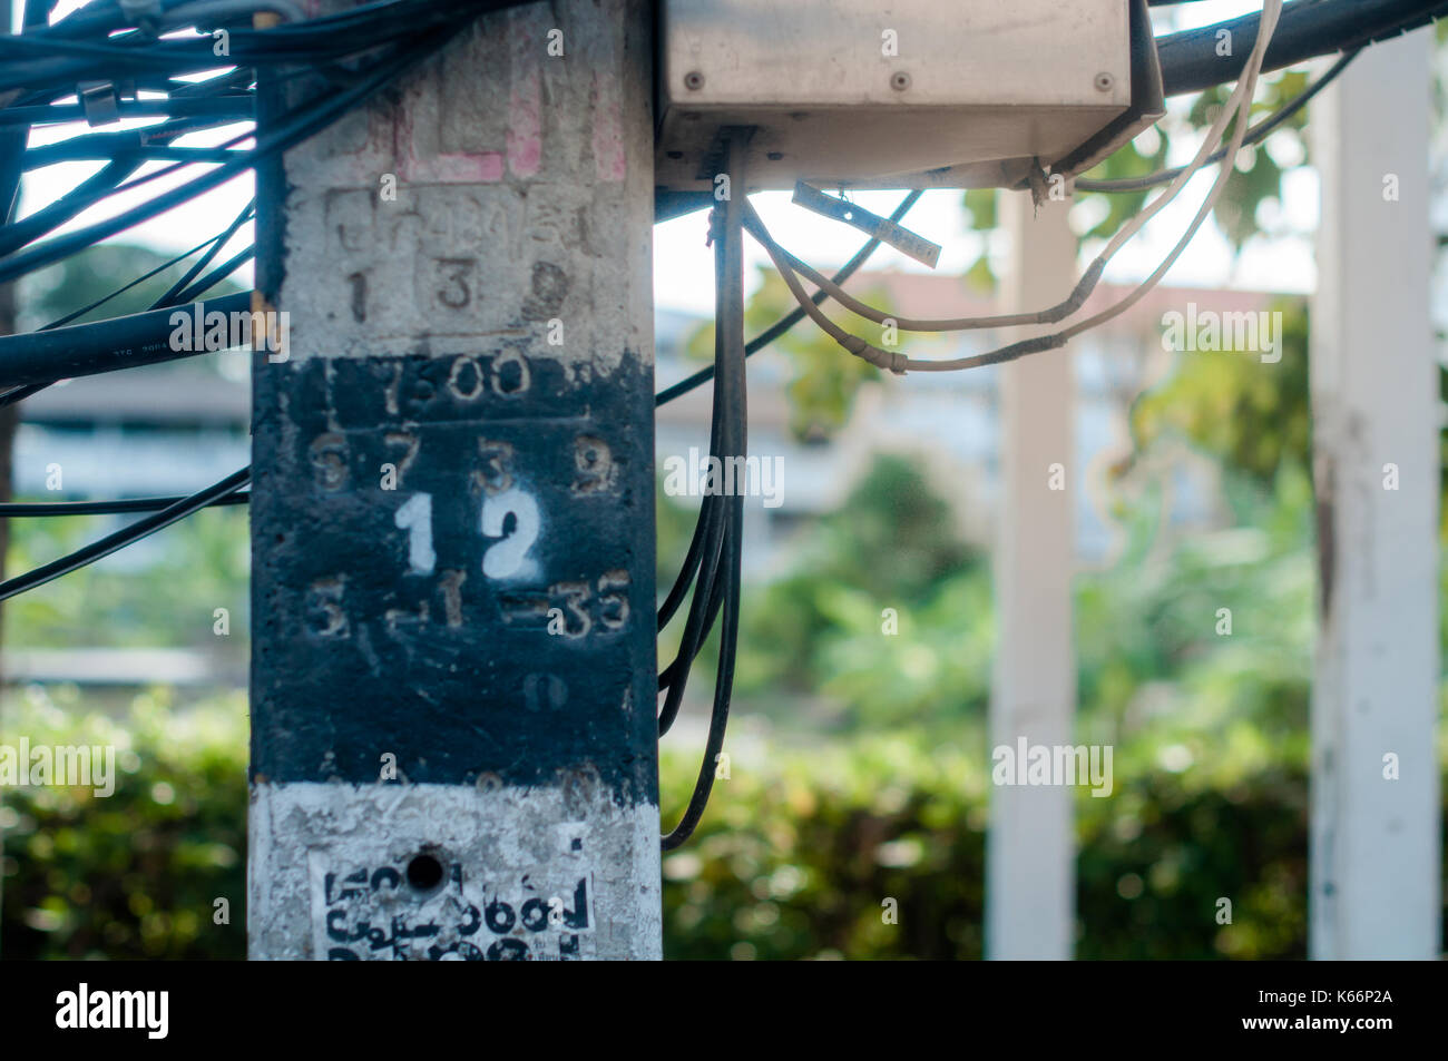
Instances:
[[[1305,744],[1232,725],[1116,751],[1112,796],[1076,800],[1076,957],[1305,957]],[[736,758],[665,855],[665,957],[982,957],[986,761],[914,735]],[[665,758],[666,805],[692,769]]]

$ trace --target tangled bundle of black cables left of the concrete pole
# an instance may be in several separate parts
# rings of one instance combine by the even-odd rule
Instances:
[[[4,221],[0,224],[0,282],[59,262],[190,201],[259,162],[278,158],[282,151],[363,106],[401,74],[436,54],[465,30],[473,16],[526,1],[388,0],[319,19],[253,29],[251,23],[256,13],[300,17],[300,12],[282,0],[153,0],[149,4],[98,0],[54,25],[45,25],[54,4],[32,0],[26,9],[26,32],[0,36],[0,221]],[[211,36],[159,36],[180,26],[209,29]],[[223,39],[223,33],[224,55],[214,43]],[[235,69],[226,69],[233,65]],[[301,103],[268,116],[261,132],[243,132],[220,148],[182,149],[172,145],[184,133],[252,120],[258,69],[266,71],[274,83],[292,83],[288,87],[301,97]],[[213,77],[185,80],[204,74]],[[142,91],[165,96],[142,100]],[[45,148],[26,146],[33,126],[88,117],[87,104],[96,94],[109,94],[107,120],[158,114],[165,120],[130,132],[91,133]],[[70,96],[77,103],[56,103]],[[123,96],[135,100],[126,103]],[[255,146],[237,148],[253,136]],[[25,169],[85,158],[106,159],[106,165],[56,203],[12,223]],[[156,158],[168,159],[171,165],[136,177],[146,162]],[[209,172],[114,217],[45,239],[106,197],[132,193],[195,162],[214,165]],[[161,330],[168,310],[193,304],[252,256],[249,249],[243,250],[201,275],[249,217],[251,207],[226,232],[168,262],[171,265],[204,252],[182,279],[153,303],[149,314],[61,327],[120,294],[113,292],[39,331],[0,337],[0,405],[22,401],[64,378],[191,356],[190,352],[162,347],[149,358],[119,358],[117,350],[132,346],[127,340],[133,336]],[[140,279],[145,278],[138,278],[127,288]],[[229,295],[217,300],[214,308],[237,310],[248,303],[248,295]],[[204,311],[207,307],[195,308]],[[249,475],[249,469],[240,469],[187,498],[90,504],[87,511],[151,511],[152,515],[70,556],[0,582],[0,601],[107,556],[206,505],[233,502]],[[0,518],[46,514],[55,514],[55,508],[7,505],[0,510]]]

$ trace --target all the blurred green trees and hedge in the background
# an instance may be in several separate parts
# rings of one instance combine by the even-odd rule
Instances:
[[[1277,77],[1260,109],[1302,84],[1300,72]],[[1158,168],[1170,133],[1200,124],[1209,103],[1093,175]],[[1299,130],[1300,117],[1276,135],[1284,148],[1253,152],[1234,177],[1218,221],[1237,246],[1264,234],[1263,203],[1306,158]],[[1082,229],[1087,253],[1140,206],[1083,200],[1099,216]],[[995,224],[989,194],[963,206],[977,229]],[[961,282],[993,285],[985,255]],[[48,313],[70,308],[45,297]],[[752,300],[752,327],[772,321],[783,300],[769,279]],[[1125,547],[1076,580],[1076,740],[1115,747],[1114,795],[1082,790],[1077,800],[1080,958],[1306,955],[1316,592],[1308,318],[1300,300],[1276,308],[1286,314],[1279,365],[1179,358],[1137,401],[1134,452],[1116,469],[1111,511]],[[695,346],[710,349],[705,339]],[[801,436],[828,437],[877,378],[809,329],[779,350]],[[1153,469],[1173,446],[1215,462],[1229,527],[1186,540],[1163,533],[1167,483]],[[665,588],[689,520],[660,492]],[[104,525],[17,523],[9,569]],[[730,777],[715,785],[695,838],[663,863],[666,957],[982,955],[990,563],[951,527],[950,502],[921,465],[880,456],[837,512],[804,531],[795,566],[750,589]],[[87,567],[7,604],[6,644],[193,644],[213,637],[213,602],[227,601],[240,602],[230,648],[245,657],[245,510],[206,512],[159,540],[164,556],[145,569]],[[1232,608],[1231,637],[1202,618],[1221,606]],[[885,608],[896,609],[898,637],[882,635]],[[699,686],[710,659],[701,654]],[[116,702],[28,686],[9,690],[0,719],[0,743],[20,734],[114,744],[122,776],[104,800],[68,789],[0,793],[0,955],[245,955],[245,695],[155,688]],[[692,787],[694,744],[663,748],[666,819]],[[1439,756],[1448,761],[1448,744]],[[1216,923],[1222,896],[1234,905],[1229,925]],[[217,923],[222,899],[227,923]],[[891,899],[898,923],[882,918]]]

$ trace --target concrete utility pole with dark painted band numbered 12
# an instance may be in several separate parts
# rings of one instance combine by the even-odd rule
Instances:
[[[650,71],[488,14],[261,177],[253,958],[660,955]]]

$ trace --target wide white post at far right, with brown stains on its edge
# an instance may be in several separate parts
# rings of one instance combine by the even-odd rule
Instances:
[[[1418,32],[1368,48],[1312,111],[1322,174],[1310,359],[1322,575],[1313,958],[1438,952],[1431,42]]]

